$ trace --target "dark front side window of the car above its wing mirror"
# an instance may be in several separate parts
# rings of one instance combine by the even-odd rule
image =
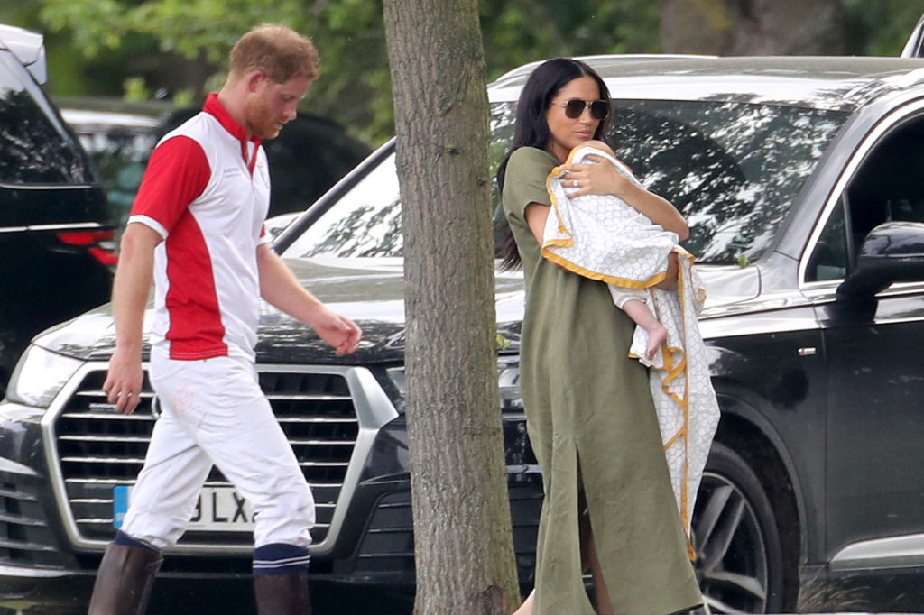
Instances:
[[[866,155],[808,260],[806,280],[839,280],[864,237],[886,222],[924,222],[924,116],[894,127]]]

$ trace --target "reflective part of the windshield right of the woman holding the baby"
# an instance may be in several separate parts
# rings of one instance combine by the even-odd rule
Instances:
[[[753,261],[770,246],[846,114],[705,101],[616,101],[610,142],[687,218],[700,262]]]

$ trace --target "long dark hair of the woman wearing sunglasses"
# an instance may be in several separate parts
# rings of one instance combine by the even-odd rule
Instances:
[[[600,88],[600,97],[604,101],[610,100],[610,90],[607,89],[603,79],[593,68],[580,60],[569,57],[556,57],[537,66],[529,75],[523,91],[520,92],[517,103],[517,128],[514,140],[497,169],[497,188],[499,194],[504,194],[504,175],[507,170],[507,161],[510,154],[522,147],[533,147],[544,150],[552,137],[549,125],[545,121],[545,111],[555,95],[568,83],[579,77],[590,77],[597,82]],[[604,119],[593,134],[594,139],[603,139],[606,134],[607,120]],[[497,247],[497,256],[501,259],[502,270],[517,269],[520,266],[517,243],[514,241],[510,224],[503,215],[497,217],[495,235],[500,237]]]

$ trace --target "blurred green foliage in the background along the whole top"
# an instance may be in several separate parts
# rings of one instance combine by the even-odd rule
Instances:
[[[898,54],[924,12],[924,0],[843,2],[849,54]],[[657,53],[658,5],[480,0],[487,78],[554,55]],[[394,132],[382,0],[2,0],[0,20],[45,32],[56,93],[125,95],[128,78],[143,78],[128,81],[133,96],[170,90],[186,100],[220,87],[242,32],[282,23],[312,36],[322,55],[305,111],[372,143]]]

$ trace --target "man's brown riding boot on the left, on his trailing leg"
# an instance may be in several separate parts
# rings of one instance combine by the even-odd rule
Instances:
[[[162,561],[152,549],[109,545],[96,572],[88,615],[143,615]]]

